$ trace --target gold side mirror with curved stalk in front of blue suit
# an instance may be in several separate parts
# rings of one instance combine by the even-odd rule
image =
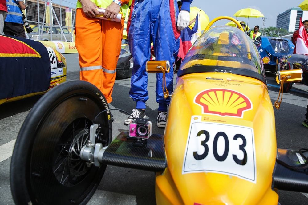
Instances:
[[[169,97],[169,91],[167,90],[166,85],[166,74],[170,71],[170,62],[169,61],[148,61],[145,69],[148,73],[163,73],[163,93],[164,98]]]

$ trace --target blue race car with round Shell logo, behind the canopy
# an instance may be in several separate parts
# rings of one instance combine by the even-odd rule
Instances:
[[[292,41],[284,38],[260,36],[254,43],[261,55],[264,69],[272,73],[276,72],[277,57],[294,52]]]

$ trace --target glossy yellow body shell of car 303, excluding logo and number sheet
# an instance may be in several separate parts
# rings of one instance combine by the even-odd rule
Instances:
[[[246,110],[242,117],[204,114],[201,107],[194,103],[194,98],[207,89],[227,89],[242,93],[250,99],[252,109]],[[271,187],[277,154],[274,110],[263,82],[231,73],[187,74],[180,77],[169,106],[164,132],[168,168],[163,173],[156,173],[157,204],[278,204],[278,194]],[[201,116],[221,125],[253,128],[256,183],[234,175],[211,172],[182,174],[192,116]]]

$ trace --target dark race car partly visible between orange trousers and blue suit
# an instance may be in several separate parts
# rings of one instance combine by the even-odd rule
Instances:
[[[116,65],[116,78],[123,79],[132,77],[133,58],[127,44],[122,44],[118,64]]]

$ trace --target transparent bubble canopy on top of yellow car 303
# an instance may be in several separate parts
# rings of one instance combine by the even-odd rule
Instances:
[[[231,26],[213,27],[203,33],[188,51],[178,76],[204,72],[233,73],[266,83],[256,46],[243,31]]]

